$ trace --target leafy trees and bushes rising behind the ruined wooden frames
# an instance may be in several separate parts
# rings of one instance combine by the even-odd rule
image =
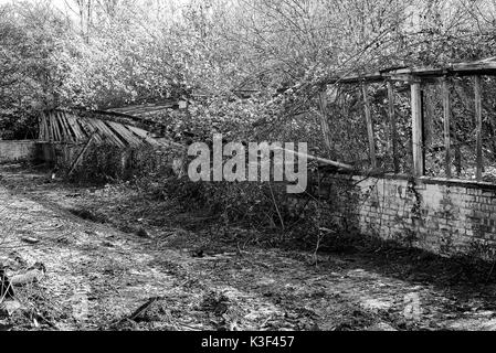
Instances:
[[[300,139],[339,157],[350,150],[342,133],[363,125],[347,115],[331,151],[315,138],[315,94],[327,78],[495,54],[488,0],[14,1],[0,14],[4,114],[182,96],[193,105],[175,132]],[[383,87],[370,93],[379,114]],[[344,124],[339,106],[326,113],[334,127]],[[386,132],[377,121],[377,136]]]

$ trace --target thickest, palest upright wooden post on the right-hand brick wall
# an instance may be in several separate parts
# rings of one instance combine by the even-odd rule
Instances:
[[[422,149],[422,96],[420,83],[411,84],[412,93],[412,149],[413,149],[413,175],[424,174],[424,159]]]

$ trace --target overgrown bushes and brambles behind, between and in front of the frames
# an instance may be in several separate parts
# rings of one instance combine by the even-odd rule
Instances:
[[[328,87],[330,77],[389,66],[441,65],[495,55],[495,4],[489,0],[362,2],[319,0],[13,1],[0,6],[0,129],[2,138],[32,137],[36,116],[50,108],[105,109],[131,103],[182,98],[187,111],[151,120],[171,139],[209,142],[303,141],[313,154],[368,169],[361,87]],[[484,81],[485,158],[494,161],[492,78]],[[453,141],[460,145],[454,174],[472,178],[474,121],[471,85],[454,77]],[[411,169],[410,103],[398,84],[400,172]],[[428,174],[442,174],[439,88],[426,87]],[[387,89],[368,87],[380,167],[392,170]],[[326,143],[321,122],[333,127]],[[463,142],[463,143],[462,143]],[[472,145],[471,145],[472,143]],[[300,226],[279,185],[200,183],[177,179],[170,151],[91,149],[80,180],[133,180],[141,190],[207,207],[225,223],[288,234]],[[175,154],[176,158],[176,154]],[[460,167],[460,168],[458,168]],[[70,163],[62,165],[65,171]],[[492,174],[493,169],[487,169]],[[490,175],[486,175],[489,178]],[[74,178],[74,176],[73,176]],[[345,191],[346,192],[346,188]],[[306,199],[319,197],[307,190]],[[337,200],[336,197],[333,197]],[[308,203],[306,217],[317,243],[333,224]],[[330,205],[331,207],[333,205]],[[335,205],[337,206],[337,205]],[[305,207],[304,207],[305,208]],[[345,228],[346,224],[341,224]],[[328,231],[321,231],[321,228]],[[323,233],[324,232],[324,233]],[[328,237],[328,236],[327,236]]]

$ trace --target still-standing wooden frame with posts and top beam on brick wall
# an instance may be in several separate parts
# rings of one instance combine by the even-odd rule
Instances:
[[[389,68],[380,72],[345,75],[342,77],[335,77],[326,82],[327,85],[351,84],[360,85],[363,96],[365,118],[367,124],[369,158],[372,169],[377,169],[378,162],[376,157],[376,139],[373,131],[373,124],[371,117],[371,108],[369,97],[367,95],[367,85],[373,83],[387,83],[388,87],[388,119],[390,122],[391,147],[393,158],[394,173],[399,173],[399,156],[398,156],[398,127],[397,117],[394,114],[394,83],[403,82],[410,85],[411,90],[411,120],[412,120],[412,154],[413,154],[413,171],[414,176],[425,175],[425,145],[424,145],[424,90],[423,84],[437,84],[442,88],[443,103],[443,124],[444,124],[444,169],[447,179],[452,178],[451,171],[451,99],[450,88],[447,85],[447,77],[464,77],[472,76],[474,82],[474,100],[475,100],[475,120],[476,120],[476,180],[482,180],[482,172],[484,169],[483,162],[483,138],[482,138],[482,88],[481,77],[484,75],[496,76],[496,57],[490,57],[482,61],[469,63],[450,64],[439,67],[402,67]],[[329,131],[323,121],[323,130]],[[326,139],[328,137],[326,136]],[[329,142],[327,142],[329,143]]]

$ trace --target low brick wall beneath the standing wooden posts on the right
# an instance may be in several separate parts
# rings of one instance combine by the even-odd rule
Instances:
[[[495,184],[334,174],[320,183],[318,194],[333,226],[446,256],[492,258],[496,249]]]

